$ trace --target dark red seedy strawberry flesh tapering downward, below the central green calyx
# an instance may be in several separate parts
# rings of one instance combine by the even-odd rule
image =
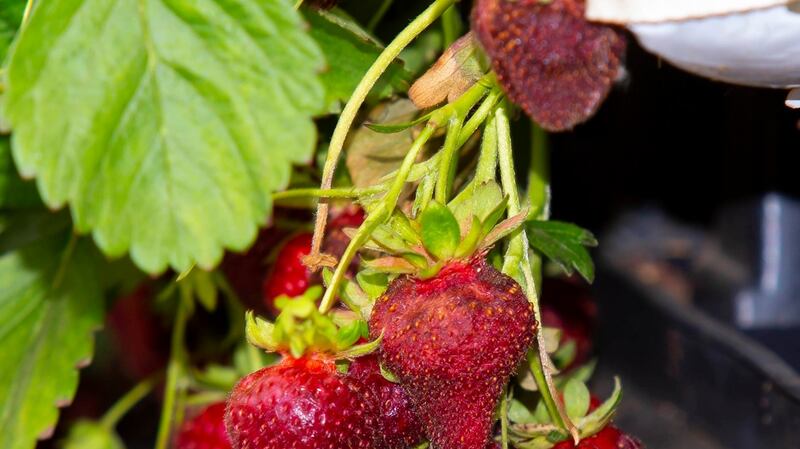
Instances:
[[[520,286],[483,257],[437,276],[393,281],[376,302],[370,333],[411,397],[436,449],[485,449],[503,385],[536,328]]]

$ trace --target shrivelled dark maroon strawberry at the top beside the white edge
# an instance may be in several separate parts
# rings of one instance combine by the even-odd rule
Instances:
[[[472,28],[512,101],[543,128],[571,129],[608,95],[622,33],[584,18],[584,0],[478,0]]]

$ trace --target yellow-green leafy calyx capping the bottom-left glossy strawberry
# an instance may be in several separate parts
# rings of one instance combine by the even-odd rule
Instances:
[[[316,301],[322,287],[313,286],[300,296],[282,295],[275,305],[281,310],[274,323],[256,317],[252,311],[245,317],[245,334],[253,346],[299,359],[307,353],[327,354],[333,359],[352,359],[374,352],[380,337],[362,344],[368,338],[367,323],[361,319],[339,320],[317,310]]]

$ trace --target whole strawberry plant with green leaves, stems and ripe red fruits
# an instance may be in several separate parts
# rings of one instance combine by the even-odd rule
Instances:
[[[124,447],[150,397],[156,449],[638,447],[540,307],[597,244],[550,220],[545,130],[624,35],[366,3],[0,0],[0,446]],[[104,322],[136,383],[60,423]]]

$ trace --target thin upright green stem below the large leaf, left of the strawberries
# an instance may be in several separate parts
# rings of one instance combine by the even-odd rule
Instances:
[[[186,323],[189,320],[191,298],[180,295],[178,300],[178,311],[175,315],[175,322],[172,327],[169,364],[167,365],[167,381],[164,386],[164,405],[161,409],[161,421],[158,426],[158,436],[156,437],[156,449],[167,449],[167,447],[169,447],[169,437],[173,427],[173,416],[175,415],[178,382],[184,372],[185,354],[183,350],[183,338],[186,333]]]

